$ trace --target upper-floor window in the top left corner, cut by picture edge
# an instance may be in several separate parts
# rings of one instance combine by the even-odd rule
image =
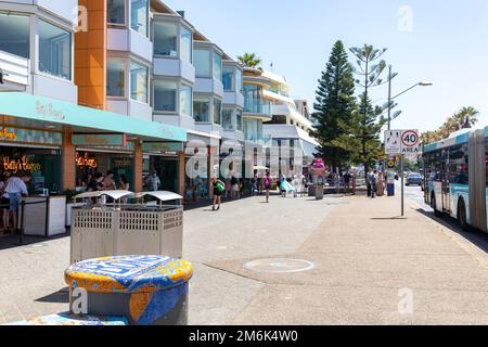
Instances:
[[[26,15],[0,13],[0,50],[30,57],[30,18]]]

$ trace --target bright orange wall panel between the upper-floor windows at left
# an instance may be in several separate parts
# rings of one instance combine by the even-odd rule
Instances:
[[[88,10],[88,31],[75,34],[78,103],[106,110],[106,0],[79,0]]]

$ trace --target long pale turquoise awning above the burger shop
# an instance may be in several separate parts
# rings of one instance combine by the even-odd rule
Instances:
[[[59,130],[69,126],[75,132],[113,132],[142,140],[187,141],[183,128],[20,92],[0,92],[0,115],[10,126]]]

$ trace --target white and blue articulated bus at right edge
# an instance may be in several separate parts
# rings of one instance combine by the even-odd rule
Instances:
[[[435,215],[488,232],[488,127],[425,145],[423,166],[425,203]]]

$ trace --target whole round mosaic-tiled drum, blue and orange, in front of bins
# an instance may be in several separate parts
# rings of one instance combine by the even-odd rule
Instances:
[[[87,293],[88,314],[126,317],[130,325],[185,325],[193,266],[164,256],[85,260],[65,271],[69,308],[75,288]]]

